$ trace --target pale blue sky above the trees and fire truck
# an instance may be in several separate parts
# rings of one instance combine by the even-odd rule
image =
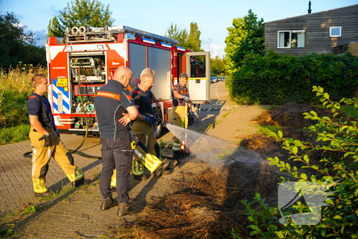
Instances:
[[[66,1],[47,0],[0,0],[0,14],[13,12],[27,31],[37,34],[39,46],[44,45],[50,19],[59,15],[66,7]],[[164,35],[171,23],[181,29],[190,30],[195,21],[201,32],[202,48],[212,56],[225,55],[227,28],[232,26],[234,18],[248,14],[249,9],[266,21],[279,20],[307,14],[306,0],[221,0],[221,1],[108,1],[113,26],[128,26],[158,35]],[[311,0],[312,13],[358,4],[358,0]]]

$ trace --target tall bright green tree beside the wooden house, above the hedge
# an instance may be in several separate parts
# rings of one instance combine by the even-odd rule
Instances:
[[[249,53],[264,53],[263,18],[258,20],[251,9],[243,18],[233,19],[233,26],[227,28],[226,70],[232,74],[239,70],[242,59]]]

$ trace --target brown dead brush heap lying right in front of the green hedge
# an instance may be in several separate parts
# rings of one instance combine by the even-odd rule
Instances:
[[[304,119],[303,113],[310,111],[315,111],[319,117],[333,117],[332,111],[327,108],[312,107],[306,104],[285,103],[281,107],[272,107],[269,110],[263,111],[252,121],[261,125],[304,128],[315,123],[313,120]]]

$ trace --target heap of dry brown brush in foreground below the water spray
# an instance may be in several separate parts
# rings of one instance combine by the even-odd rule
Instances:
[[[266,202],[277,202],[277,183],[289,177],[264,162],[235,162],[206,169],[196,178],[183,175],[176,191],[147,205],[140,219],[117,231],[122,238],[229,238],[233,228],[249,238],[247,215],[240,200],[259,192]]]

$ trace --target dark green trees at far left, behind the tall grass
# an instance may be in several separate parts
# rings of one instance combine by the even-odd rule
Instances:
[[[36,46],[36,34],[25,32],[25,27],[14,13],[0,15],[0,67],[5,70],[19,61],[46,66],[46,51]]]

